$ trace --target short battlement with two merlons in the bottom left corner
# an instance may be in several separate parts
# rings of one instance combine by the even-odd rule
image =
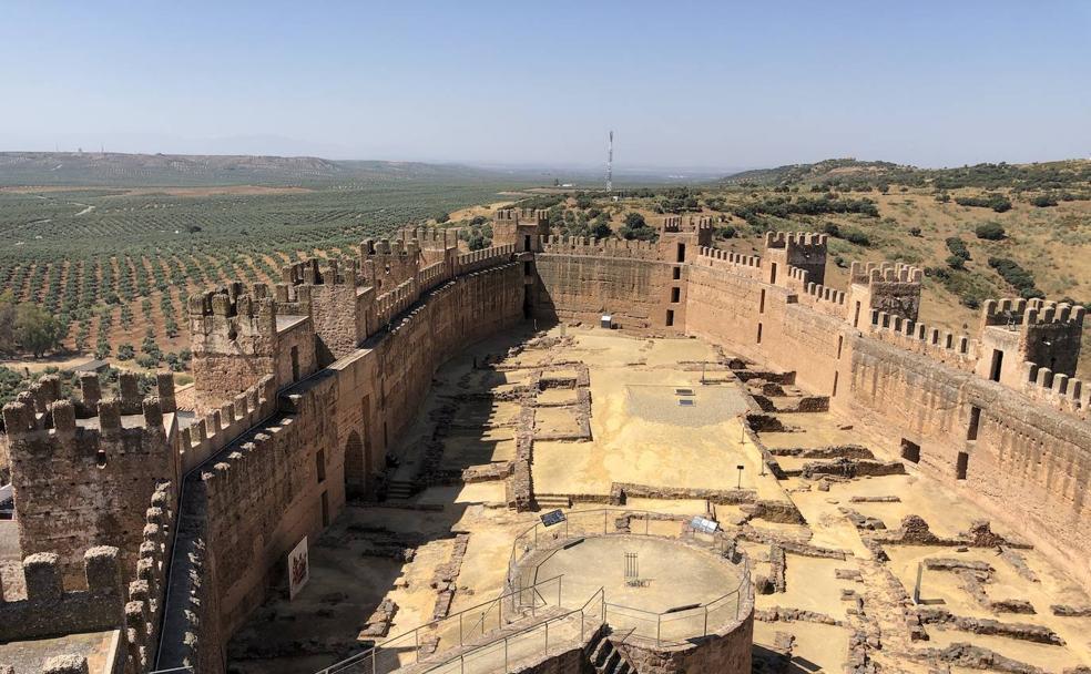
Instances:
[[[65,590],[61,558],[53,552],[23,560],[24,598],[0,581],[0,642],[122,627],[125,588],[119,550],[91,548],[82,561],[86,590]]]

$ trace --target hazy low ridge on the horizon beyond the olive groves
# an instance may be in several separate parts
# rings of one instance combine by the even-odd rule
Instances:
[[[0,185],[298,185],[398,180],[497,180],[482,168],[313,156],[0,152]]]

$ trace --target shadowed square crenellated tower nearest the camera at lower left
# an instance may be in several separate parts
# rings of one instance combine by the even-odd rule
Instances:
[[[91,376],[82,399],[62,400],[45,377],[3,409],[22,553],[55,552],[75,585],[95,545],[119,548],[132,578],[152,494],[176,478],[173,379],[161,379],[162,399],[139,398],[134,376],[121,384],[121,399],[100,400]]]

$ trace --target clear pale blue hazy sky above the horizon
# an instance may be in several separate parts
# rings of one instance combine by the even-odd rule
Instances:
[[[0,149],[752,167],[1091,152],[1091,2],[0,4]]]

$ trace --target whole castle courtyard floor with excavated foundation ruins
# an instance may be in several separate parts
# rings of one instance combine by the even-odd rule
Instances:
[[[874,429],[801,407],[809,394],[785,372],[695,338],[565,324],[518,336],[478,343],[438,370],[389,451],[390,482],[424,473],[430,483],[349,500],[312,543],[309,583],[292,601],[286,589],[272,595],[235,634],[231,671],[319,672],[410,633],[398,664],[421,657],[414,640],[430,637],[435,671],[459,671],[443,654],[498,620],[489,602],[511,590],[516,548],[537,544],[528,531],[588,537],[549,553],[524,583],[541,583],[543,611],[579,609],[599,586],[634,611],[701,604],[738,581],[714,555],[671,552],[693,517],[717,521],[750,560],[755,666],[843,671],[880,630],[871,657],[897,671],[969,671],[982,653],[972,649],[1039,671],[1091,665],[1091,615],[1064,611],[1089,600],[1049,551],[885,450]],[[510,464],[528,458],[537,512],[509,508]],[[553,509],[567,519],[546,528],[540,515]],[[619,515],[635,542],[595,538]],[[643,585],[626,584],[626,552]],[[639,629],[638,617],[622,623]],[[689,624],[677,625],[685,639]],[[509,656],[538,649],[528,644],[513,641]],[[344,671],[371,671],[355,666]]]

